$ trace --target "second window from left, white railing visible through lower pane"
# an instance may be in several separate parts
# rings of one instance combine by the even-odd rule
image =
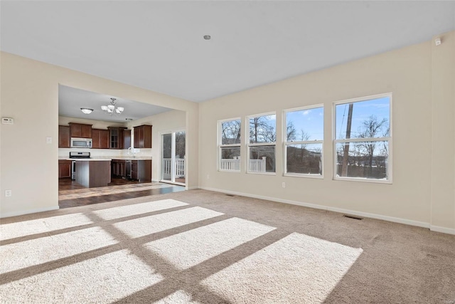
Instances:
[[[248,146],[249,173],[275,172],[277,115],[263,114],[248,117],[250,142]]]

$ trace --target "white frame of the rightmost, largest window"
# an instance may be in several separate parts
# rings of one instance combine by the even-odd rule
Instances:
[[[379,98],[389,98],[389,136],[388,137],[367,137],[367,138],[349,138],[343,140],[336,139],[336,106],[343,105],[346,103],[360,103],[362,101],[369,101]],[[382,93],[376,95],[369,95],[360,98],[350,98],[346,100],[339,100],[333,103],[332,110],[332,142],[333,142],[333,180],[346,181],[346,182],[368,182],[374,184],[392,184],[392,92]],[[387,142],[388,144],[388,155],[387,155],[387,179],[368,179],[365,177],[337,177],[337,154],[336,145],[343,142]]]

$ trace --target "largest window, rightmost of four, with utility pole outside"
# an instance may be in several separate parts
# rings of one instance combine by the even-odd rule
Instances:
[[[335,103],[335,179],[392,182],[392,94]]]

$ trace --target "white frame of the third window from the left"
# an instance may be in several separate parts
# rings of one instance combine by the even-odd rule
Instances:
[[[319,103],[317,105],[306,105],[304,107],[299,107],[299,108],[291,108],[291,109],[286,109],[283,110],[283,117],[282,117],[282,142],[283,142],[283,176],[284,177],[304,177],[304,178],[310,178],[310,179],[323,179],[324,178],[324,140],[299,140],[296,142],[288,142],[287,141],[287,113],[288,112],[296,112],[296,111],[301,111],[301,110],[312,110],[312,109],[317,109],[317,108],[322,108],[323,116],[322,116],[322,125],[324,126],[324,116],[325,116],[325,108],[323,103]],[[323,136],[325,136],[325,131],[323,127]],[[288,173],[287,172],[287,146],[288,145],[306,145],[306,144],[321,144],[321,175],[313,175],[313,174],[308,174],[308,173]]]

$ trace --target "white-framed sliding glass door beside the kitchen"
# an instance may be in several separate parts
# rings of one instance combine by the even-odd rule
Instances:
[[[161,182],[186,184],[185,131],[161,135]]]

